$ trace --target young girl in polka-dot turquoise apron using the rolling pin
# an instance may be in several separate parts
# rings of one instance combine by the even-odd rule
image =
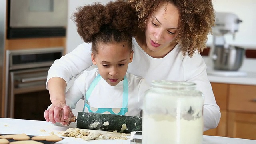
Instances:
[[[84,71],[66,92],[66,105],[71,109],[84,99],[85,112],[140,115],[143,94],[149,85],[143,78],[126,73],[133,58],[135,16],[125,1],[110,2],[106,6],[94,3],[74,13],[80,36],[84,42],[92,43],[91,60],[97,68]],[[47,111],[45,118],[49,121]]]

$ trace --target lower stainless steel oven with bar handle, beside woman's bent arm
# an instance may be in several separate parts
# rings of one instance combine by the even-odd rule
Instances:
[[[64,48],[6,51],[6,117],[44,120],[44,110],[51,104],[47,73],[63,52]]]

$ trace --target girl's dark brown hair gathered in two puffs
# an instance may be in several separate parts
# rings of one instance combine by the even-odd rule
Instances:
[[[127,0],[111,1],[106,5],[94,2],[79,7],[72,20],[84,42],[92,42],[92,52],[96,54],[99,43],[127,42],[132,49],[132,36],[138,30],[136,11]]]

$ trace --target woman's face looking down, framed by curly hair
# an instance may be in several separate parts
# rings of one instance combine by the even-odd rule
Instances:
[[[178,8],[170,2],[161,2],[149,18],[145,36],[148,49],[157,52],[170,46],[178,34]]]

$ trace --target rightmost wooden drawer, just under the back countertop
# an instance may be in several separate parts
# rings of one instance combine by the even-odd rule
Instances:
[[[256,86],[230,84],[229,111],[256,112]]]

